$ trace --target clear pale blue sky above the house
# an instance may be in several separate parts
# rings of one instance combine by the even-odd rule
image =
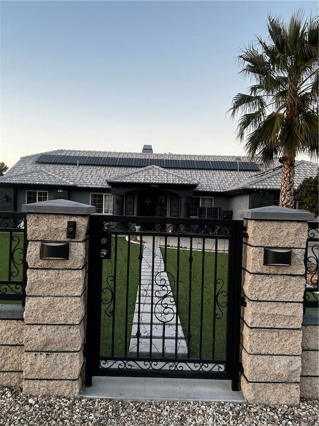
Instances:
[[[0,162],[56,149],[245,155],[227,110],[267,15],[317,1],[0,0]]]

